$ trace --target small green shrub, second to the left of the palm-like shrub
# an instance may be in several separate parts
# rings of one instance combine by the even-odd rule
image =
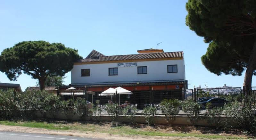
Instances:
[[[133,123],[134,121],[136,111],[137,111],[137,107],[133,105],[127,105],[126,107],[122,108],[122,114],[131,123]]]

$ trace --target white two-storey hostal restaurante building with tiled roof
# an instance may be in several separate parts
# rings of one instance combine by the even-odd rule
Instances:
[[[184,99],[185,63],[183,52],[164,52],[162,49],[138,50],[138,54],[105,56],[93,50],[85,59],[75,62],[71,70],[71,84],[93,91],[87,100],[107,103],[110,97],[98,96],[112,87],[121,86],[132,95],[120,95],[121,102],[138,104],[160,103],[165,98]]]

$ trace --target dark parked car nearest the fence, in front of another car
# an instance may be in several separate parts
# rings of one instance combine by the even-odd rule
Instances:
[[[202,109],[205,109],[206,103],[211,103],[210,108],[212,107],[221,107],[224,106],[226,103],[228,103],[229,101],[227,101],[224,98],[210,98],[207,101],[202,101],[202,102],[198,102],[202,104]]]

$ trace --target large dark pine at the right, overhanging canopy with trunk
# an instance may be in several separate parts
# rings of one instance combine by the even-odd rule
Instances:
[[[249,93],[256,70],[256,1],[188,0],[186,25],[209,43],[202,64],[221,75],[242,75]]]

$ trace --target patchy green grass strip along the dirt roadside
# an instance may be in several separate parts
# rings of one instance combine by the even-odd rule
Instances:
[[[249,139],[249,137],[239,137],[239,136],[220,136],[220,135],[206,135],[206,134],[194,134],[194,133],[163,133],[160,131],[145,131],[140,128],[129,128],[127,126],[119,126],[116,128],[102,129],[100,125],[70,125],[65,126],[65,124],[57,123],[47,123],[47,122],[36,122],[36,121],[0,121],[1,125],[8,126],[23,126],[30,128],[45,128],[50,130],[79,130],[79,131],[92,131],[108,134],[117,135],[144,135],[144,136],[179,136],[179,137],[199,137],[208,139]]]

